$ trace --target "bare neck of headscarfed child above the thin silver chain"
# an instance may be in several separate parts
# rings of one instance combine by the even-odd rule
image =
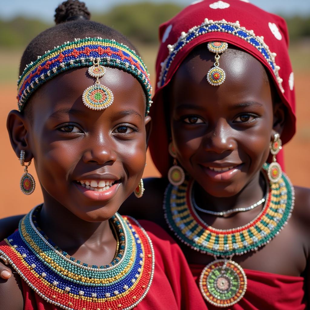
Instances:
[[[265,193],[266,181],[260,172],[239,193],[231,197],[211,196],[199,184],[194,184],[194,198],[197,205],[215,212],[251,206],[262,199]]]

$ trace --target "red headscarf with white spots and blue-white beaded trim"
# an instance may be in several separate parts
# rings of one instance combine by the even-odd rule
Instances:
[[[288,142],[295,133],[294,74],[288,55],[286,22],[248,2],[198,0],[159,28],[161,45],[156,61],[157,85],[150,112],[153,130],[149,146],[153,162],[163,176],[171,165],[163,89],[190,51],[201,43],[228,42],[258,59],[270,73],[288,110],[282,143]],[[283,166],[281,153],[277,160]]]

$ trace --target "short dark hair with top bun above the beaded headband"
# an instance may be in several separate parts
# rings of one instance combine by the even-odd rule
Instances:
[[[60,4],[56,8],[56,25],[41,32],[26,47],[20,61],[20,75],[26,65],[37,60],[38,56],[44,55],[47,50],[53,49],[54,46],[62,45],[67,41],[71,42],[74,38],[102,37],[114,39],[136,51],[128,38],[117,30],[89,19],[90,13],[83,2],[68,0]]]

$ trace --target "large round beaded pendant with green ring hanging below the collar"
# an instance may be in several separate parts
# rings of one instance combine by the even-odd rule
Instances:
[[[199,287],[203,297],[217,307],[237,303],[246,292],[246,274],[236,262],[218,259],[201,272]]]

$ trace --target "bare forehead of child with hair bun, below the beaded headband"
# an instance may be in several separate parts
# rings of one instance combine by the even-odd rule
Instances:
[[[130,73],[117,68],[105,67],[106,73],[99,79],[101,85],[112,91],[112,105],[101,111],[87,108],[82,101],[82,94],[96,81],[87,73],[87,69],[68,70],[43,84],[29,100],[33,113],[48,116],[57,109],[75,108],[82,110],[87,117],[91,114],[98,117],[103,113],[107,115],[116,110],[134,108],[144,117],[146,97],[141,84]]]

